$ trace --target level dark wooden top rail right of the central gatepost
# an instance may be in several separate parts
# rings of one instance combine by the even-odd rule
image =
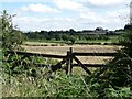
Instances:
[[[74,52],[76,56],[116,56],[117,53],[78,53]]]

